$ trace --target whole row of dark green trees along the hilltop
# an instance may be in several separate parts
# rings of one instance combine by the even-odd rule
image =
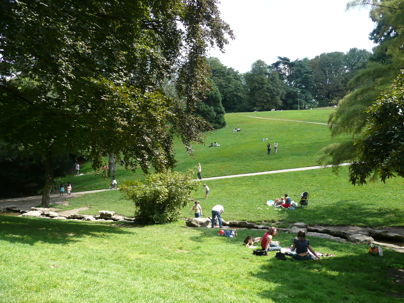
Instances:
[[[366,68],[371,55],[368,50],[351,48],[347,53],[322,53],[314,59],[290,61],[278,57],[270,65],[257,60],[244,74],[215,57],[208,58],[207,62],[224,110],[251,112],[297,109],[299,103],[300,108],[335,105],[354,90],[350,80]],[[206,115],[201,116],[210,120]]]

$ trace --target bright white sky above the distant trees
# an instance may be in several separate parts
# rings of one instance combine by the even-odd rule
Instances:
[[[229,67],[246,72],[254,61],[291,60],[349,48],[371,50],[375,23],[366,9],[345,11],[347,0],[221,0],[219,10],[236,35],[226,53],[210,50]]]

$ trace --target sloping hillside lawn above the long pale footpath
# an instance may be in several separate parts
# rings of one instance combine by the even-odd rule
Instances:
[[[290,117],[294,115],[297,120],[326,120],[330,110],[316,109],[288,112],[261,112],[260,115],[284,114]],[[316,114],[318,113],[318,114]],[[185,148],[176,141],[176,158],[179,161],[176,170],[186,171],[202,164],[202,178],[235,175],[243,173],[255,173],[267,170],[280,170],[317,165],[317,152],[332,142],[344,141],[345,137],[330,138],[330,132],[326,125],[310,124],[292,121],[265,120],[248,117],[251,113],[226,114],[227,126],[208,134],[206,142],[218,142],[219,147],[207,147],[195,145],[195,159],[189,156]],[[310,115],[316,114],[316,115]],[[303,116],[302,116],[303,115]],[[284,116],[281,117],[285,118]],[[241,132],[232,133],[236,127]],[[261,139],[274,137],[273,140],[261,141]],[[271,155],[267,154],[267,143],[272,147],[278,142],[278,153],[272,148]],[[79,177],[65,177],[63,183],[72,182],[74,191],[104,189],[108,187],[108,181],[101,175],[94,176],[94,172],[87,163],[81,167],[81,172],[89,172],[88,175]],[[142,179],[143,172],[139,169],[136,173],[125,170],[118,165],[116,178],[118,184],[124,179]],[[196,174],[195,174],[196,177]]]

